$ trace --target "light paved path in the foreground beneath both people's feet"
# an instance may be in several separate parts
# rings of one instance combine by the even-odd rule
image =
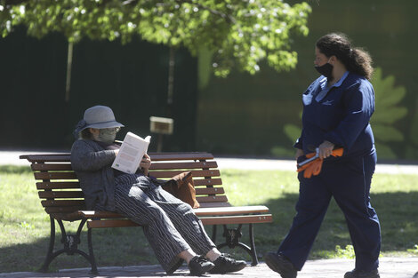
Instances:
[[[321,259],[310,260],[298,274],[298,278],[342,278],[346,271],[353,268],[351,259]],[[381,278],[412,278],[418,271],[418,258],[382,258],[379,268]],[[28,278],[28,277],[91,277],[89,268],[65,269],[53,274],[39,273],[9,273],[0,274],[4,278]],[[160,266],[125,266],[125,267],[99,267],[100,275],[96,277],[168,277]],[[189,270],[183,266],[173,276],[189,276]],[[189,276],[190,277],[190,276]],[[220,278],[261,278],[280,277],[272,272],[264,263],[258,266],[248,266],[235,274],[205,274],[202,277]],[[418,278],[418,275],[415,277]],[[415,278],[414,277],[414,278]]]

